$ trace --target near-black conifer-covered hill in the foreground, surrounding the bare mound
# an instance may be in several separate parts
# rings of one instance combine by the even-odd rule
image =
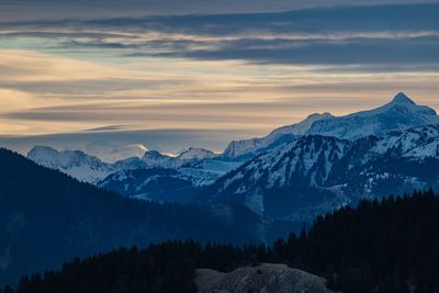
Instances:
[[[362,201],[271,247],[168,241],[120,249],[23,279],[16,292],[194,292],[194,268],[230,271],[262,261],[325,277],[347,293],[439,292],[439,198],[429,191]]]

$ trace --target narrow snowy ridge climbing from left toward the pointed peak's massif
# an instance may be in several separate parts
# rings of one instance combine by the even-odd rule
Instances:
[[[223,156],[227,158],[255,156],[258,153],[262,153],[267,148],[274,147],[284,142],[290,142],[294,136],[305,134],[314,122],[331,117],[334,116],[329,113],[316,113],[307,116],[304,121],[297,124],[277,128],[262,138],[234,140],[224,150]]]

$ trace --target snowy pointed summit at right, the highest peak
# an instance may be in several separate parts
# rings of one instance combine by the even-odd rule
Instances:
[[[390,103],[378,109],[316,121],[306,134],[357,139],[368,135],[383,136],[392,131],[437,123],[439,123],[439,116],[435,110],[417,105],[399,92]]]

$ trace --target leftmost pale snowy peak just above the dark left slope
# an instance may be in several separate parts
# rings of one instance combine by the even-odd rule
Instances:
[[[146,167],[139,158],[108,164],[81,150],[57,150],[47,146],[35,146],[27,153],[27,158],[90,183],[95,183],[117,170]]]

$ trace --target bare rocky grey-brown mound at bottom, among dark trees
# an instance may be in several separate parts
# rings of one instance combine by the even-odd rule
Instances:
[[[330,293],[326,280],[285,264],[263,263],[229,273],[209,269],[196,271],[200,293]]]

